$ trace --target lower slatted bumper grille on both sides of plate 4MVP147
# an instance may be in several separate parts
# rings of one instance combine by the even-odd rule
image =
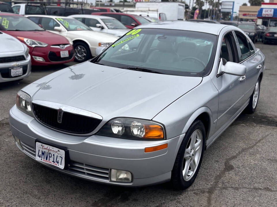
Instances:
[[[35,148],[20,141],[20,145],[23,148],[23,152],[35,159]],[[52,166],[52,165],[51,165]],[[61,170],[61,169],[60,169]],[[69,168],[64,170],[68,173],[81,176],[83,178],[110,181],[109,168],[96,167],[80,162],[74,162],[70,160]]]

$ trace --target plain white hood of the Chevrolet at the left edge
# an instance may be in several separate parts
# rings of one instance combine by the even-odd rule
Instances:
[[[23,44],[16,38],[2,33],[0,34],[0,53],[15,52],[15,51],[24,51]]]

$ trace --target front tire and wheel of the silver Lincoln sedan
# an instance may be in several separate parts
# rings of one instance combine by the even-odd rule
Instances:
[[[196,143],[191,144],[192,135],[195,135]],[[202,135],[202,140],[201,136]],[[192,185],[201,166],[205,147],[205,127],[200,120],[195,120],[188,129],[177,153],[173,169],[171,171],[171,183],[174,189],[184,190]],[[199,142],[201,140],[201,142]],[[198,145],[196,145],[198,143]],[[193,148],[190,150],[190,148]],[[198,147],[198,148],[197,148]],[[186,154],[185,154],[186,152]],[[200,153],[200,154],[199,154]],[[197,159],[198,158],[198,159]],[[197,160],[197,161],[196,161]],[[197,163],[196,163],[197,162]],[[192,170],[192,166],[194,170]],[[187,169],[187,170],[185,170]],[[186,176],[183,176],[183,170]],[[186,179],[185,179],[186,178]]]

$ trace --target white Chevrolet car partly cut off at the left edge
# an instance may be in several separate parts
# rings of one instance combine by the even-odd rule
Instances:
[[[31,73],[29,48],[9,34],[0,32],[0,83],[27,78]]]

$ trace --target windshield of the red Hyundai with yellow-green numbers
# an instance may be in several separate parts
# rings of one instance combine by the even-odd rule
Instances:
[[[32,20],[24,16],[17,15],[0,15],[1,30],[17,30],[17,31],[42,31],[44,30]]]

